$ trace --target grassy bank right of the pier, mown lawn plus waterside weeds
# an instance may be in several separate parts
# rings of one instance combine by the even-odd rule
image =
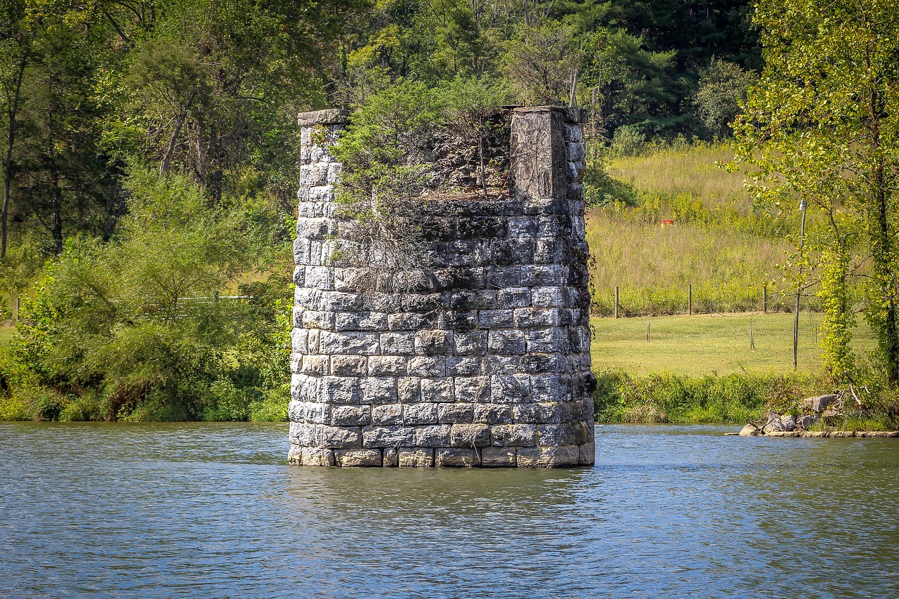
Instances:
[[[800,315],[796,372],[791,314],[594,317],[591,324],[600,422],[743,423],[767,406],[832,391],[816,314]],[[858,326],[856,351],[874,343],[868,326]]]

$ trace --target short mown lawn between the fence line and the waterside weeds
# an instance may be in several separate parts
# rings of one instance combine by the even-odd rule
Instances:
[[[821,326],[821,319],[820,314],[799,316],[800,371],[821,367],[821,350],[814,337],[814,329]],[[594,317],[591,322],[594,371],[621,369],[634,375],[667,371],[701,376],[793,370],[792,314]],[[750,325],[755,350],[750,348]],[[855,335],[853,346],[860,354],[874,346],[868,326],[857,326]],[[818,340],[821,337],[818,333]]]

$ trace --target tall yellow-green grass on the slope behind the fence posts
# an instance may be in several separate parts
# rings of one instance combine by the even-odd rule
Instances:
[[[762,310],[763,287],[770,311],[789,308],[777,264],[790,246],[778,223],[752,210],[743,175],[715,164],[729,157],[724,146],[698,145],[610,162],[636,205],[616,199],[588,211],[595,314],[614,313],[615,287],[623,315],[686,313],[690,285],[694,312]]]

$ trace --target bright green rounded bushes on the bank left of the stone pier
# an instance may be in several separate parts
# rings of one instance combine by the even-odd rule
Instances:
[[[22,306],[4,371],[16,401],[5,409],[67,420],[283,417],[287,281],[272,275],[243,285],[245,299],[218,299],[268,231],[237,235],[245,215],[209,210],[180,176],[136,175],[129,191],[111,240],[69,238]]]

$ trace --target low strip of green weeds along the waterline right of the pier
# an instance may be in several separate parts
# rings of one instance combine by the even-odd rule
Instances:
[[[772,406],[795,404],[827,384],[809,374],[732,373],[685,377],[672,373],[636,377],[624,371],[594,372],[597,422],[734,423],[758,421]]]

